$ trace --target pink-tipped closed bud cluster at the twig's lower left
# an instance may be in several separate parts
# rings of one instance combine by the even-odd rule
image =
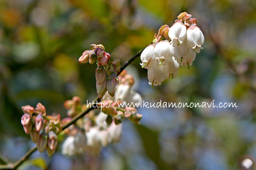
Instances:
[[[30,134],[39,152],[46,149],[51,157],[58,142],[56,134],[61,130],[60,115],[46,115],[46,108],[41,103],[38,103],[36,108],[30,105],[22,106],[22,110],[24,114],[21,117],[21,124],[24,131]]]

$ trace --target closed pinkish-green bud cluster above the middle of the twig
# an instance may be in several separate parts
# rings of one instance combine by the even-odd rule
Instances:
[[[103,45],[92,44],[90,50],[84,51],[78,60],[80,63],[97,63],[98,68],[95,70],[95,78],[97,94],[100,99],[107,91],[113,97],[118,86],[117,72],[121,66],[120,61],[111,61],[110,57],[111,54],[105,51]]]

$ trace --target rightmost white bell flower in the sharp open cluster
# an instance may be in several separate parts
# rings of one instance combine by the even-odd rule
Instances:
[[[186,45],[188,48],[193,49],[196,52],[200,52],[203,49],[204,35],[201,29],[197,26],[190,26],[187,29]]]

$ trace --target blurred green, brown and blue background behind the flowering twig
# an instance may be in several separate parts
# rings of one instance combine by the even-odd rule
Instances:
[[[36,152],[20,169],[230,170],[256,160],[255,0],[0,0],[0,153],[14,162],[34,144],[21,106],[38,102],[66,116],[65,100],[96,96],[96,64],[80,64],[90,44],[124,63],[172,26],[197,19],[204,49],[190,70],[151,89],[137,58],[128,72],[146,102],[235,102],[237,108],[139,108],[121,141],[98,157]],[[254,165],[251,169],[255,169]]]

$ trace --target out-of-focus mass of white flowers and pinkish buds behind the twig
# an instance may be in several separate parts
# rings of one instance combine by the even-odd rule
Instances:
[[[96,80],[101,78],[101,76],[96,76]],[[139,124],[142,115],[137,113],[136,108],[118,106],[122,102],[142,103],[142,97],[131,90],[134,79],[125,70],[119,74],[118,79],[119,85],[115,95],[112,97],[106,93],[102,97],[102,101],[98,103],[98,108],[101,108],[102,105],[105,106],[101,108],[100,113],[91,111],[83,119],[79,119],[74,125],[64,130],[68,135],[62,145],[64,155],[100,153],[101,147],[119,141],[123,119],[127,118],[133,123]],[[73,97],[72,100],[64,103],[69,118],[63,119],[62,124],[68,123],[72,117],[88,107],[87,104],[81,104],[80,101],[79,97]]]

